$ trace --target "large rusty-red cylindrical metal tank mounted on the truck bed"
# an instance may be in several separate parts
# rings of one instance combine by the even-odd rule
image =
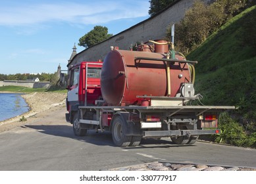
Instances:
[[[136,57],[166,58],[164,53],[113,49],[101,69],[101,93],[107,105],[141,105],[137,96],[166,96],[166,61],[135,60]],[[184,60],[180,55],[176,59]],[[181,83],[190,82],[186,63],[170,64],[170,97],[180,93]]]

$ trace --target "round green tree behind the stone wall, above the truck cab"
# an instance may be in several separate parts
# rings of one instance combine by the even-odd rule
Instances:
[[[85,34],[83,37],[80,37],[78,45],[88,48],[101,41],[104,41],[105,39],[108,39],[112,35],[113,34],[108,34],[107,27],[95,26],[93,30],[88,32],[88,34]]]

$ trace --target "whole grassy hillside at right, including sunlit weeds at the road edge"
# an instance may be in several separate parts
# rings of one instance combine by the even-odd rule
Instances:
[[[256,7],[229,20],[187,58],[199,62],[195,91],[203,104],[238,108],[233,118],[220,118],[215,139],[256,147]]]

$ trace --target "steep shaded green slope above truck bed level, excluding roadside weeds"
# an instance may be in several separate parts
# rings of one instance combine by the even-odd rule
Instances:
[[[205,104],[236,105],[242,99],[255,103],[256,47],[247,42],[249,35],[256,34],[247,32],[252,16],[256,17],[255,6],[232,18],[188,55],[189,60],[199,61],[195,89]]]

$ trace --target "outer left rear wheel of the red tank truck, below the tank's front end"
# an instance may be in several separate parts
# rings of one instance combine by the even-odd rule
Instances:
[[[128,147],[132,141],[132,136],[124,135],[124,122],[120,116],[117,116],[113,121],[112,139],[118,147]]]

